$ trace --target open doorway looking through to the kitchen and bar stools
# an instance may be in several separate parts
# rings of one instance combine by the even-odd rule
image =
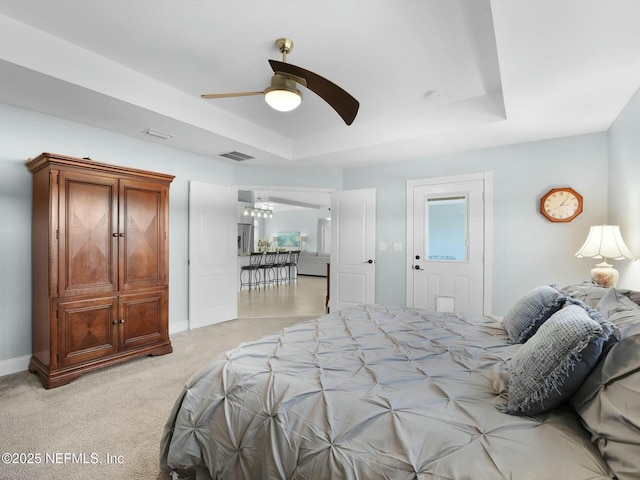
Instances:
[[[250,225],[250,247],[239,249],[238,270],[249,251],[300,250],[297,279],[279,285],[238,286],[238,318],[317,317],[326,313],[331,249],[332,189],[238,186],[238,224]],[[258,205],[256,205],[258,203]],[[272,215],[245,215],[266,208]],[[246,229],[246,228],[244,228]]]

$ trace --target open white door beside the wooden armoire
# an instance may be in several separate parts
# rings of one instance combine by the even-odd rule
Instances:
[[[189,328],[238,316],[238,192],[189,182]]]

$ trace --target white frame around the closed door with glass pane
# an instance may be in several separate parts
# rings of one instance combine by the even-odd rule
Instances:
[[[413,305],[413,197],[414,187],[482,180],[484,182],[484,298],[483,314],[493,310],[493,173],[479,172],[407,180],[406,306]]]

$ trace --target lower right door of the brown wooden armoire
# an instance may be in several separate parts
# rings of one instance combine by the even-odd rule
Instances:
[[[120,297],[120,349],[168,339],[166,290]]]

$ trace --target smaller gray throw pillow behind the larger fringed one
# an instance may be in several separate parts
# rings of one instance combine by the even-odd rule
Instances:
[[[512,343],[524,343],[540,325],[562,308],[567,296],[554,285],[543,285],[526,294],[502,320]]]

